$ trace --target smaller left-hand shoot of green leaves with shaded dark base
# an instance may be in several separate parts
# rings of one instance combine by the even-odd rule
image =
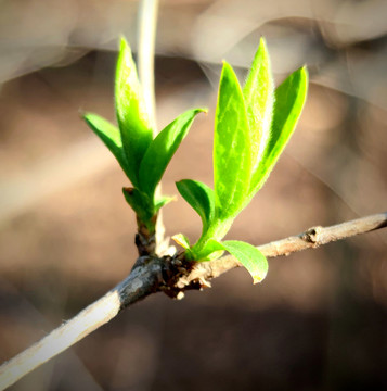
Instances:
[[[130,48],[121,39],[116,68],[115,104],[118,128],[96,114],[86,113],[85,121],[111,150],[133,187],[124,195],[150,232],[155,215],[171,198],[155,198],[155,189],[168,163],[186,136],[194,117],[205,110],[190,110],[153,139],[153,129]]]

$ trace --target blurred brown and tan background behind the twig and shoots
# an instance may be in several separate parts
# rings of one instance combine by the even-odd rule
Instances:
[[[114,118],[118,37],[137,51],[137,1],[0,1],[0,361],[130,270],[128,181],[79,110]],[[211,184],[220,62],[243,79],[259,37],[275,79],[307,64],[309,98],[286,152],[229,238],[255,244],[386,210],[385,0],[165,0],[159,127],[208,106],[169,166]],[[198,237],[181,200],[167,234]],[[385,390],[387,232],[233,270],[183,301],[154,295],[12,390]]]

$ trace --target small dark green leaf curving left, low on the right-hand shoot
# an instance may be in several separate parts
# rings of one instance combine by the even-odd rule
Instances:
[[[184,198],[184,200],[201,216],[203,223],[203,236],[207,231],[210,222],[214,219],[214,190],[201,181],[191,179],[180,180],[176,182],[176,187],[178,188],[180,194]]]

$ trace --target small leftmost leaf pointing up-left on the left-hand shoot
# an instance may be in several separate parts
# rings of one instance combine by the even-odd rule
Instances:
[[[114,154],[119,165],[129,177],[130,169],[125,153],[122,151],[121,136],[118,128],[105,118],[93,113],[83,114],[83,119]]]

